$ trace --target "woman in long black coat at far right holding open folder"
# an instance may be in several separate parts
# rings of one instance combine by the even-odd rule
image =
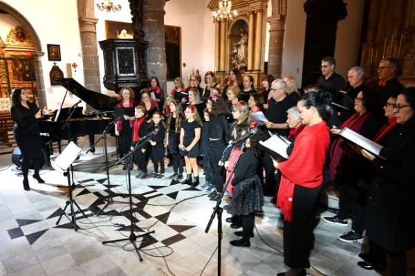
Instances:
[[[366,212],[370,252],[366,262],[358,264],[366,269],[382,269],[389,255],[390,275],[407,275],[405,252],[415,247],[415,89],[401,91],[393,107],[397,125],[378,141],[384,145],[380,154],[385,159],[362,149],[376,176]]]

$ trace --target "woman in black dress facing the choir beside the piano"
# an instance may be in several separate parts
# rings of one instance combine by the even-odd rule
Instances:
[[[42,165],[42,140],[39,133],[39,125],[37,120],[42,118],[39,107],[34,102],[29,102],[26,92],[17,88],[12,91],[10,114],[15,120],[13,127],[13,135],[15,136],[17,145],[20,148],[21,156],[21,172],[23,173],[24,190],[30,190],[28,181],[29,163],[33,162],[35,174],[33,178],[38,183],[45,181],[39,176],[39,169]],[[50,111],[44,109],[45,115],[50,115]]]

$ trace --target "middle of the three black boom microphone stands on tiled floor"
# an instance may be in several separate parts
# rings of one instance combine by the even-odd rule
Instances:
[[[133,196],[131,194],[131,156],[134,154],[134,152],[136,152],[137,149],[140,149],[142,145],[144,145],[145,142],[147,142],[150,138],[152,137],[152,135],[149,135],[143,139],[140,139],[140,141],[137,142],[136,147],[130,151],[128,154],[126,154],[125,156],[123,156],[120,160],[118,160],[114,165],[118,165],[120,164],[124,159],[125,162],[127,163],[127,176],[128,176],[128,192],[129,192],[129,215],[130,215],[130,235],[128,238],[125,239],[114,239],[111,241],[102,241],[102,244],[106,244],[106,243],[114,243],[117,241],[130,241],[134,248],[136,249],[137,255],[138,255],[138,259],[140,259],[140,261],[142,261],[142,257],[140,255],[140,250],[136,244],[136,240],[139,237],[146,237],[149,234],[152,234],[154,232],[156,232],[155,230],[151,231],[151,232],[147,232],[144,234],[140,234],[140,235],[136,235],[134,233],[134,224],[133,224]],[[114,166],[114,165],[111,165]]]

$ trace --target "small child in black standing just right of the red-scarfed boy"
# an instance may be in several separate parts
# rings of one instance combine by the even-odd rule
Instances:
[[[156,111],[153,113],[150,123],[150,131],[155,131],[158,128],[156,134],[154,134],[149,140],[151,145],[151,158],[154,164],[154,176],[153,178],[161,179],[164,177],[164,140],[166,137],[166,129],[164,127],[163,115]],[[158,164],[160,164],[160,173],[158,172]]]

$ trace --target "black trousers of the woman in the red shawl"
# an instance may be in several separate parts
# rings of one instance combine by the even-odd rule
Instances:
[[[314,247],[314,210],[321,185],[306,188],[295,185],[293,220],[284,221],[284,264],[290,268],[306,268]]]

